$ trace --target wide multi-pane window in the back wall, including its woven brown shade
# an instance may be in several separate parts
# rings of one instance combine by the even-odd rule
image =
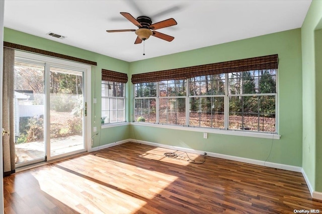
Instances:
[[[276,133],[278,55],[132,75],[135,121]]]

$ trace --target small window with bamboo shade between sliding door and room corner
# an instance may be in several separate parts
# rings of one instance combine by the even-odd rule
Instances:
[[[127,74],[102,69],[102,125],[126,121],[126,82]]]

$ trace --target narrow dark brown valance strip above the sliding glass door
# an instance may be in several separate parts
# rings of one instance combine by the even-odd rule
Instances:
[[[67,56],[64,54],[54,53],[51,51],[45,51],[45,50],[41,50],[38,48],[32,48],[32,47],[18,45],[18,44],[14,44],[14,43],[10,43],[10,42],[4,42],[4,47],[13,48],[16,50],[28,51],[28,52],[42,54],[42,55],[51,56],[51,57],[56,57],[56,58],[60,58],[60,59],[66,59],[66,60],[75,61],[75,62],[81,62],[81,63],[89,64],[89,65],[95,65],[95,66],[97,65],[97,62],[89,61],[86,59]]]

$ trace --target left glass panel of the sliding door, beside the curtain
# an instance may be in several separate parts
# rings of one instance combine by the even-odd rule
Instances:
[[[16,61],[14,130],[16,164],[45,160],[45,64]]]

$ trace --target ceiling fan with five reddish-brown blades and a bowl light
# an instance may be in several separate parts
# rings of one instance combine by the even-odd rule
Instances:
[[[137,35],[137,38],[134,42],[134,44],[140,44],[142,41],[147,40],[150,36],[155,36],[157,38],[166,40],[168,42],[171,42],[174,40],[173,36],[169,36],[167,34],[159,33],[157,29],[161,28],[167,28],[173,25],[177,25],[176,20],[173,18],[167,19],[161,22],[157,22],[152,24],[152,20],[149,17],[146,16],[140,16],[137,19],[135,19],[131,14],[129,13],[120,13],[122,16],[124,16],[128,21],[133,23],[138,29],[129,29],[129,30],[107,30],[108,33],[115,33],[115,32],[128,32],[128,31],[134,31]]]

